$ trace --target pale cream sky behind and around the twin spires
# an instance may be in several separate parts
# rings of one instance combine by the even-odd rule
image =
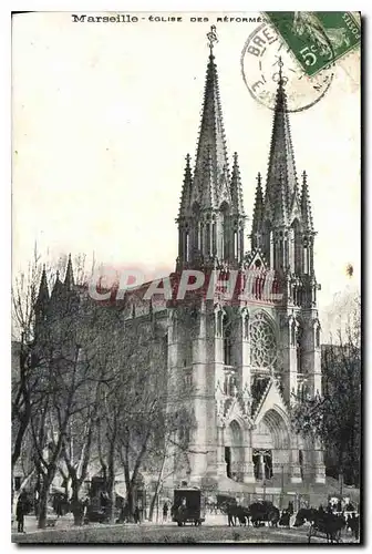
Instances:
[[[73,22],[69,12],[13,18],[13,275],[35,243],[46,263],[68,253],[89,260],[94,252],[117,268],[174,269],[185,156],[195,160],[200,123],[206,33],[220,13],[202,14],[208,22],[172,14],[183,17],[180,23],[133,16],[137,23]],[[249,94],[240,72],[244,44],[258,23],[216,27],[227,147],[230,160],[239,154],[251,217],[272,124],[272,112]],[[349,53],[337,62],[327,94],[290,114],[297,172],[308,173],[326,319],[335,296],[360,281],[359,71],[359,53]]]

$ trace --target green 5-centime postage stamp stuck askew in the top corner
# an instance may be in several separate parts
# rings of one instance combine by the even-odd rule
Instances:
[[[309,76],[359,47],[361,25],[350,11],[267,11]]]

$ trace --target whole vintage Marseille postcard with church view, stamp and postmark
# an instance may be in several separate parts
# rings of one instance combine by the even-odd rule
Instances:
[[[13,542],[362,542],[361,33],[13,14]]]

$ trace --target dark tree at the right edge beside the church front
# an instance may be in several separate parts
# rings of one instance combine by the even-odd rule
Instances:
[[[361,305],[354,299],[344,329],[322,349],[322,396],[298,399],[297,432],[321,440],[345,482],[359,484],[361,438]]]

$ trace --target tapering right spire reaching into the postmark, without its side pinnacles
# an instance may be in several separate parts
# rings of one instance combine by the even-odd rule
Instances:
[[[297,186],[297,173],[294,164],[293,146],[290,133],[287,94],[285,91],[285,79],[282,75],[282,61],[279,58],[279,80],[273,113],[272,133],[269,166],[267,174],[265,213],[266,217],[272,218],[276,203],[282,202],[282,192],[278,194],[278,177],[282,175],[283,194],[286,204],[290,206],[293,192]],[[280,208],[281,209],[281,208]]]

